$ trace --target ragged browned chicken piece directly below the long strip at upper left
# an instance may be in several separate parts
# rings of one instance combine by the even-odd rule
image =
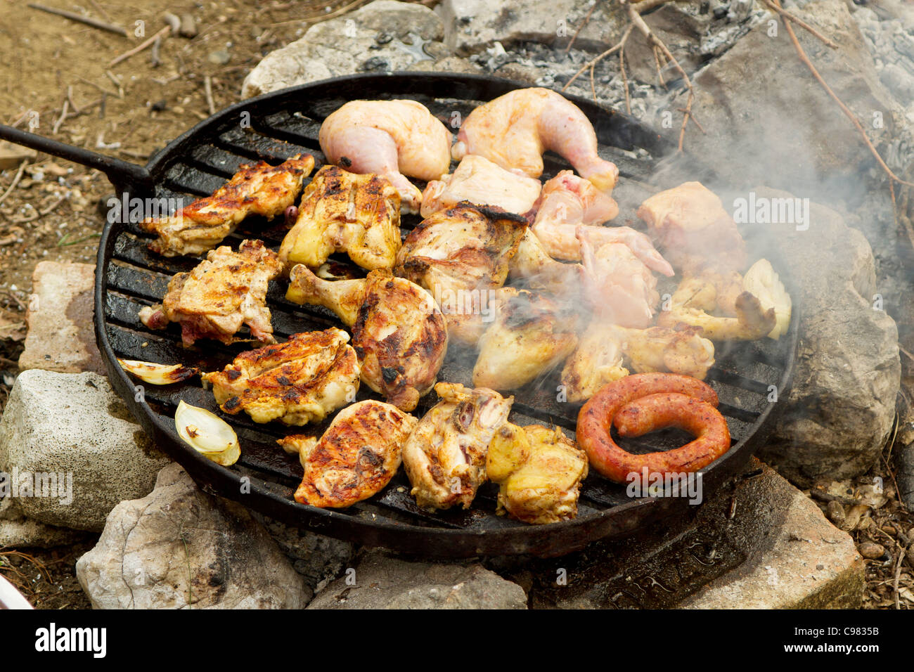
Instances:
[[[144,307],[140,320],[151,329],[180,323],[186,347],[199,338],[233,343],[241,325],[261,343],[275,343],[266,297],[280,272],[279,257],[260,240],[243,240],[237,252],[223,245],[193,271],[175,273],[162,304]]]

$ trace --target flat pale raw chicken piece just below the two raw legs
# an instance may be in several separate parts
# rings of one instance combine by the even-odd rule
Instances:
[[[523,215],[533,208],[542,187],[533,177],[505,170],[483,156],[466,155],[452,175],[432,180],[425,187],[421,213],[429,217],[465,200]]]

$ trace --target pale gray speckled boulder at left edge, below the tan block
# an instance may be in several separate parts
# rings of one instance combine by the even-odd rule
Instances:
[[[25,371],[16,379],[0,421],[0,472],[33,484],[53,475],[56,496],[26,496],[27,517],[62,528],[101,531],[124,499],[146,495],[168,464],[98,374]],[[41,485],[53,485],[48,476]],[[32,488],[32,495],[37,494]]]

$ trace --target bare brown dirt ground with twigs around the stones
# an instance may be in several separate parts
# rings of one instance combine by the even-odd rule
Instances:
[[[50,16],[25,0],[0,0],[0,62],[5,65],[0,68],[0,123],[143,164],[209,116],[207,76],[214,108],[221,109],[239,100],[241,81],[263,55],[301,37],[310,22],[366,1],[46,3],[128,28],[131,37],[121,37]],[[163,38],[157,62],[147,48],[109,65],[165,27],[165,11],[192,15],[196,37]],[[21,171],[0,172],[0,411],[16,376],[35,264],[93,262],[104,223],[98,206],[111,190],[101,173],[48,155],[37,155]],[[880,463],[861,483],[874,475],[893,481],[887,464]],[[890,560],[866,560],[865,601],[871,608],[895,607],[898,539],[907,545],[914,538],[914,517],[898,505],[894,487],[888,490],[892,496],[874,512],[875,524],[853,533],[858,542],[872,540],[891,552]],[[852,487],[844,498],[851,501],[853,495]],[[823,506],[825,498],[818,497]],[[0,549],[0,572],[39,608],[88,608],[74,565],[95,539],[88,535],[59,549]],[[910,591],[910,584],[909,573],[902,574],[901,587]]]

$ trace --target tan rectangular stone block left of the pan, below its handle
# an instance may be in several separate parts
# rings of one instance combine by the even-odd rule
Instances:
[[[39,261],[28,298],[28,334],[19,368],[103,374],[92,326],[95,264]]]

